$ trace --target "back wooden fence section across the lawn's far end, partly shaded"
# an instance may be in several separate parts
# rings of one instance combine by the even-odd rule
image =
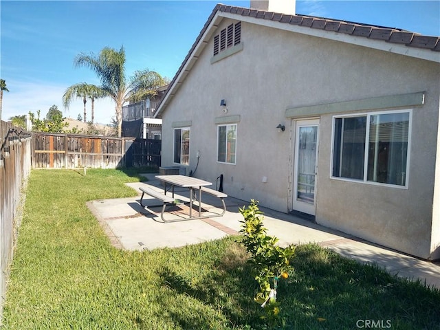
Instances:
[[[32,133],[33,168],[160,166],[160,140]]]

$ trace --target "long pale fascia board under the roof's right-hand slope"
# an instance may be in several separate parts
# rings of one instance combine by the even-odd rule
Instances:
[[[247,23],[263,25],[270,28],[276,28],[279,30],[296,32],[300,34],[306,34],[309,36],[317,36],[318,38],[340,41],[342,43],[351,43],[353,45],[369,47],[375,50],[382,50],[384,52],[391,52],[394,54],[411,56],[415,58],[421,58],[426,61],[440,63],[439,52],[433,52],[432,50],[422,50],[420,48],[412,48],[406,45],[399,45],[396,43],[388,43],[386,41],[369,39],[364,36],[353,36],[351,34],[320,30],[320,29],[309,28],[300,25],[294,25],[290,23],[280,23],[278,21],[272,21],[270,19],[261,19],[261,18],[257,19],[255,17],[241,16],[239,14],[232,14],[230,12],[218,12],[217,14],[221,17],[225,17],[228,19],[235,19],[235,20],[239,19],[240,21]]]

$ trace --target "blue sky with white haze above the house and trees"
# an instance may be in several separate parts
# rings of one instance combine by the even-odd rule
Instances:
[[[76,83],[99,81],[75,68],[80,52],[103,47],[126,52],[126,74],[150,69],[173,78],[216,3],[249,7],[250,1],[0,1],[0,76],[3,120],[56,104],[67,117],[83,113],[83,102],[64,109],[62,96]],[[440,36],[440,1],[296,0],[296,13],[401,28]],[[87,109],[90,104],[88,102]],[[98,100],[95,121],[114,116],[110,100]],[[90,118],[90,117],[88,117]]]

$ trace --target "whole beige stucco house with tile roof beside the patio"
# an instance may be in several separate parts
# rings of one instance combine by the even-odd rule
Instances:
[[[260,9],[212,11],[155,114],[162,166],[440,258],[439,38]]]

